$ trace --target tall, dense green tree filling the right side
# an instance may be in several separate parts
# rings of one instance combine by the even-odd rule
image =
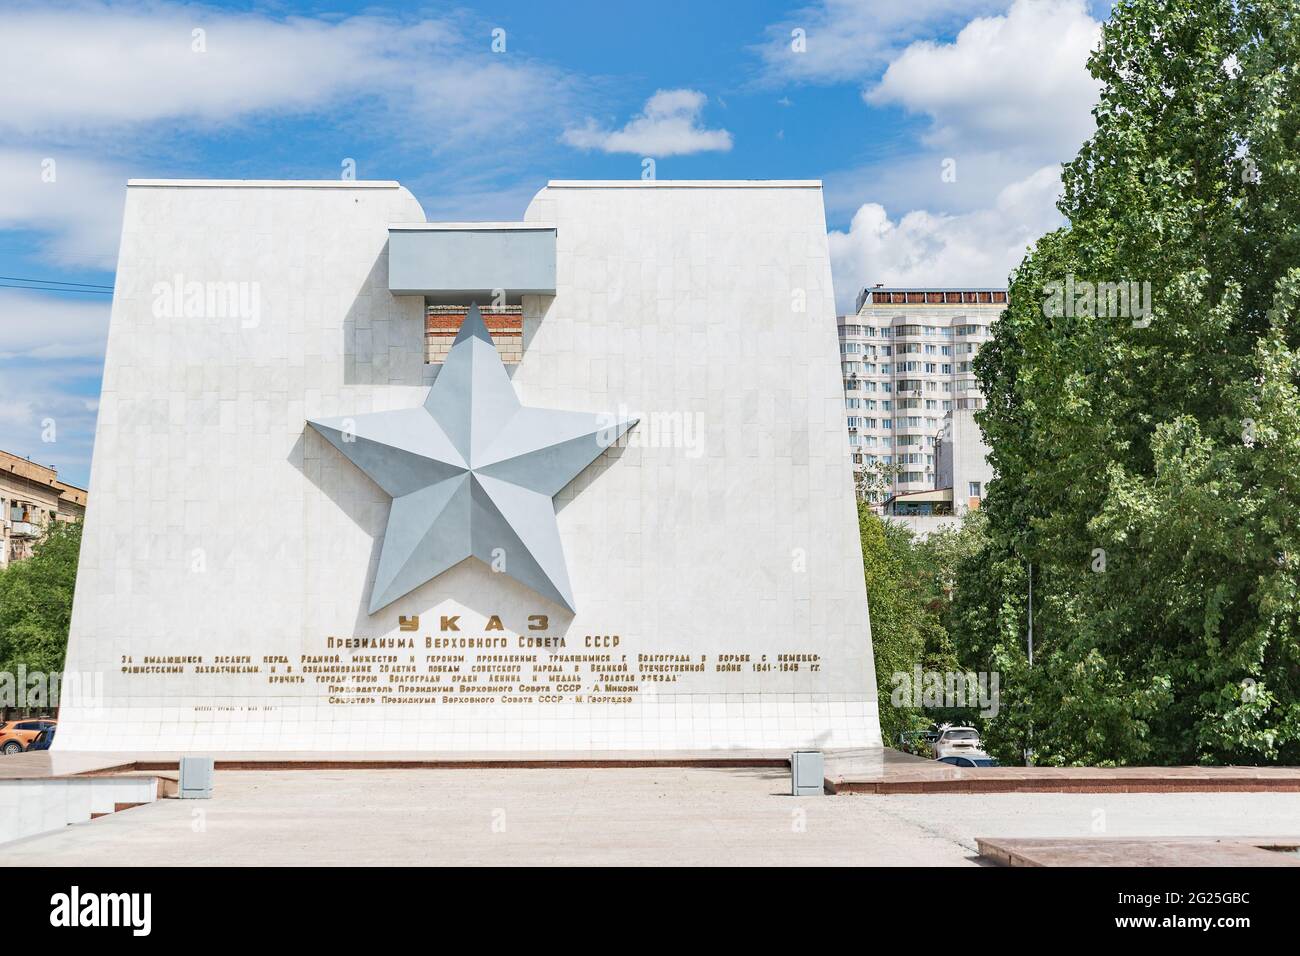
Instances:
[[[1089,69],[1069,225],[1015,271],[975,363],[1000,477],[954,645],[1006,669],[1004,754],[1296,762],[1300,10],[1121,0]],[[1148,282],[1149,313],[1084,282]],[[1032,672],[998,591],[1030,564]]]

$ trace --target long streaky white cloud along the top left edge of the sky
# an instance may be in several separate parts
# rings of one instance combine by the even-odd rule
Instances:
[[[169,3],[9,7],[0,62],[21,78],[0,85],[0,130],[26,137],[318,111],[347,120],[355,108],[398,109],[408,125],[437,124],[426,133],[446,140],[545,116],[568,88],[559,72],[494,55],[451,20],[274,18]]]

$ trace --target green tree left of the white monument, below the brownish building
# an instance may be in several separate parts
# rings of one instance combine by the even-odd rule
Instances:
[[[81,522],[51,522],[31,558],[0,571],[0,670],[62,670],[81,532]]]

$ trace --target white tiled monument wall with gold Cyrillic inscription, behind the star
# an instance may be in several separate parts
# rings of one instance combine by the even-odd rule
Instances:
[[[879,744],[820,185],[528,207],[520,399],[640,419],[555,499],[576,614],[476,559],[367,611],[389,498],[306,423],[424,401],[386,252],[424,220],[395,182],[129,186],[66,665],[104,691],[56,748]]]

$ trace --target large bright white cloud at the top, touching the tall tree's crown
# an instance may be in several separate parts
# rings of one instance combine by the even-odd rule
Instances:
[[[1083,0],[1015,0],[953,43],[913,43],[864,99],[927,114],[936,147],[997,144],[1061,161],[1092,134],[1098,83],[1087,60],[1100,36]]]

